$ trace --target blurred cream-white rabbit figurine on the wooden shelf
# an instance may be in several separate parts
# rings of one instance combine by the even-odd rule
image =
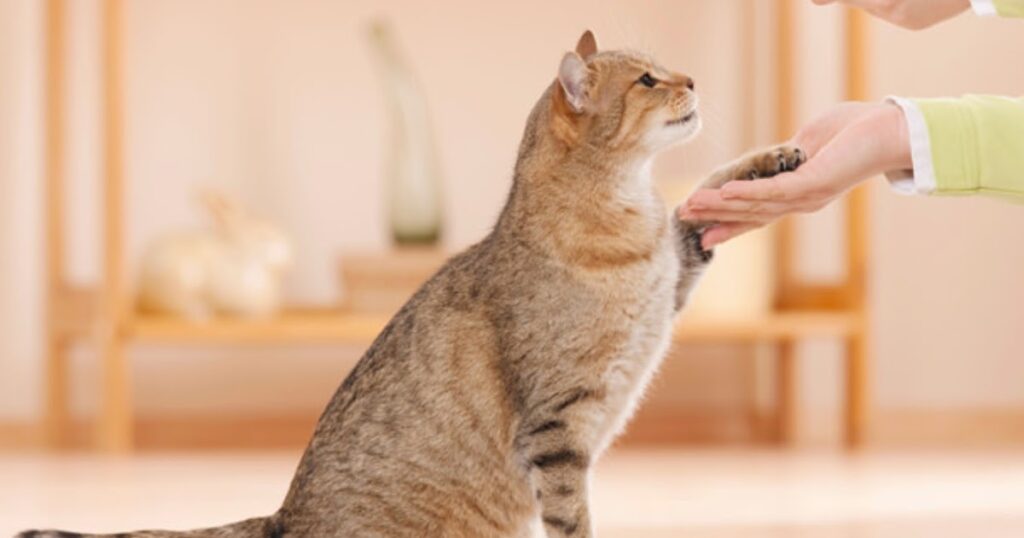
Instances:
[[[193,320],[274,314],[282,278],[292,262],[288,238],[223,196],[207,194],[203,201],[213,216],[212,229],[169,234],[146,250],[139,307]]]

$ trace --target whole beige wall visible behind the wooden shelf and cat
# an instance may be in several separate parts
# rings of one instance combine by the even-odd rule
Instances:
[[[91,281],[98,260],[96,119],[87,105],[95,98],[95,0],[73,4],[77,63],[71,76],[79,100],[73,99],[76,136],[69,156],[76,170],[69,193],[69,271],[75,280]],[[453,247],[490,225],[525,114],[561,51],[585,27],[604,44],[655,52],[697,80],[706,131],[693,146],[667,156],[658,175],[698,175],[754,141],[768,141],[770,132],[764,122],[771,114],[770,50],[762,49],[753,67],[742,61],[743,43],[764,40],[770,23],[768,3],[760,0],[127,5],[130,258],[155,234],[197,222],[189,197],[199,187],[220,185],[293,231],[300,263],[289,294],[300,301],[333,300],[340,251],[386,244],[379,185],[383,102],[362,37],[371,16],[394,19],[431,104]],[[737,24],[752,7],[755,27]],[[0,2],[0,44],[9,45],[0,46],[0,111],[5,120],[15,113],[19,118],[0,126],[0,157],[22,156],[0,158],[0,419],[38,411],[40,265],[32,240],[39,221],[38,162],[32,158],[38,132],[28,112],[38,106],[38,86],[31,85],[26,59],[36,36],[27,30],[32,19],[7,16],[33,17],[35,11],[29,0]],[[800,101],[810,116],[840,96],[840,27],[835,11],[809,3],[801,16]],[[1011,53],[979,59],[987,57],[980,51],[1024,50],[1019,25],[965,17],[925,34],[877,25],[876,91],[1019,92],[1024,73],[1008,69],[1016,59]],[[16,31],[4,32],[8,27]],[[752,93],[753,110],[743,105]],[[1024,249],[1013,247],[1024,211],[984,200],[904,199],[878,187],[871,302],[879,406],[1024,409],[1024,343],[1015,333],[1024,328],[1018,307],[1024,302]],[[842,266],[838,218],[831,211],[805,220],[802,262],[809,276],[828,280]],[[686,370],[680,365],[692,369],[678,387],[681,401],[728,406],[749,397],[745,379],[736,379],[746,371],[746,354],[685,353],[689,359],[672,366],[677,373]],[[150,414],[318,407],[347,364],[327,349],[137,349],[133,357],[137,407]],[[840,386],[834,342],[812,342],[804,358],[805,397],[812,408],[829,410]],[[77,354],[80,412],[95,401],[95,375],[90,357]],[[809,427],[828,429],[830,422],[814,420],[817,426]]]

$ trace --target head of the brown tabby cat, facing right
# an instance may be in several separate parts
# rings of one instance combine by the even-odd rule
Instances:
[[[598,51],[590,31],[566,52],[551,92],[551,127],[568,144],[647,157],[700,130],[693,79],[628,50]]]

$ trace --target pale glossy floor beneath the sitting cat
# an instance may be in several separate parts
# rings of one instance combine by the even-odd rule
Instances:
[[[0,455],[0,536],[209,526],[272,511],[297,453]],[[1021,537],[1024,452],[612,453],[598,536]]]

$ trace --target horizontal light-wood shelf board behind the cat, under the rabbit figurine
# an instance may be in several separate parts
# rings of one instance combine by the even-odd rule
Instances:
[[[136,342],[182,344],[369,344],[387,316],[340,311],[295,309],[267,320],[213,319],[205,322],[139,316],[128,326]],[[742,320],[683,319],[679,341],[779,341],[808,337],[842,338],[857,329],[847,312],[776,313]]]

